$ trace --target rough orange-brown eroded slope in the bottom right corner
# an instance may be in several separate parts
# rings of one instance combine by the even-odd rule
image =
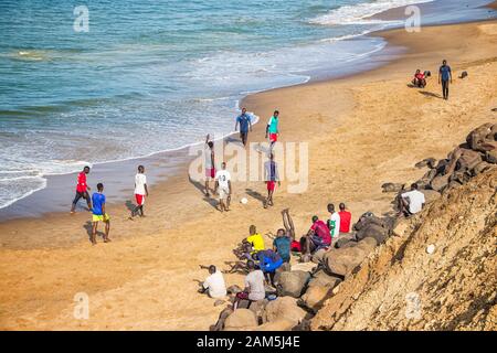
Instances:
[[[404,229],[334,290],[313,330],[497,329],[497,169],[445,192]]]

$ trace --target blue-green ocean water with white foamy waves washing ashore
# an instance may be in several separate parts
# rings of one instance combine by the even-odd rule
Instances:
[[[429,2],[425,0],[424,2]],[[0,1],[0,208],[83,164],[231,132],[251,92],[366,64],[420,0]],[[264,119],[266,117],[263,117]]]

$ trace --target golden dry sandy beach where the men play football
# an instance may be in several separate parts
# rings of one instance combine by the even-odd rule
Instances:
[[[304,234],[314,214],[327,215],[329,202],[345,202],[353,220],[367,211],[390,212],[382,183],[419,179],[424,172],[414,168],[417,161],[443,158],[469,130],[497,121],[497,21],[374,35],[403,54],[367,73],[243,101],[262,122],[279,109],[282,142],[308,143],[305,193],[287,193],[283,182],[275,206],[263,210],[264,184],[235,182],[232,211],[221,214],[184,168],[150,190],[148,217],[128,221],[124,203],[109,207],[110,244],[99,238],[92,247],[84,212],[1,223],[0,329],[207,330],[223,306],[197,292],[197,280],[207,276],[198,265],[225,268],[251,224],[274,233],[281,210],[289,207],[297,234]],[[436,82],[443,58],[454,71],[448,101]],[[433,74],[425,89],[408,86],[416,68]],[[457,78],[463,71],[468,77]],[[250,141],[264,140],[264,128],[257,124]],[[239,202],[244,196],[247,205]],[[243,284],[241,275],[225,279]],[[73,317],[80,292],[89,297],[88,320]]]

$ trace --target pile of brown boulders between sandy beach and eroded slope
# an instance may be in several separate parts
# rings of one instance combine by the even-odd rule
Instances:
[[[466,142],[436,161],[427,158],[416,168],[429,171],[416,181],[430,204],[452,188],[461,186],[497,163],[497,124],[485,124],[473,130]],[[405,184],[385,183],[383,192],[402,192]],[[353,225],[353,232],[342,235],[328,250],[318,250],[311,263],[282,267],[275,276],[278,298],[252,303],[250,309],[226,308],[213,330],[298,330],[335,296],[340,282],[353,275],[374,248],[390,236],[410,233],[411,218],[378,217],[364,213]],[[298,268],[298,269],[297,269]],[[240,291],[235,286],[232,293]]]

